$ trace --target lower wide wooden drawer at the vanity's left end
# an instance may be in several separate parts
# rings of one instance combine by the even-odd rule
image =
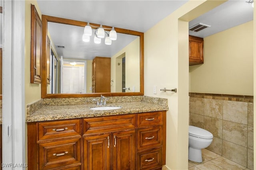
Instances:
[[[81,165],[81,138],[40,143],[38,149],[40,170]]]

